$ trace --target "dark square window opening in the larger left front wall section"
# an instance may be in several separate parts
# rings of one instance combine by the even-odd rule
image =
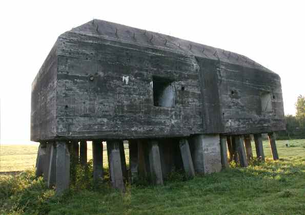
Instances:
[[[174,84],[167,78],[153,76],[154,106],[174,107]]]

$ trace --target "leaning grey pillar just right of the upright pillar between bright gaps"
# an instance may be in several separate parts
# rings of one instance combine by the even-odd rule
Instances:
[[[119,145],[119,140],[107,141],[107,150],[109,155],[109,172],[112,187],[121,191],[125,191]]]

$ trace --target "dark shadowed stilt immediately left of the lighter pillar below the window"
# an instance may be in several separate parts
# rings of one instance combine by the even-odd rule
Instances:
[[[140,179],[147,179],[148,177],[148,159],[145,156],[147,153],[147,145],[148,143],[144,140],[138,140],[138,171]]]

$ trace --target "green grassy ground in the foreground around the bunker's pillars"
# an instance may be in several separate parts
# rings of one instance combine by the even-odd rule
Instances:
[[[305,140],[291,140],[290,147],[286,143],[277,141],[278,161],[271,159],[265,141],[266,163],[189,181],[173,173],[164,186],[127,185],[126,193],[111,189],[107,182],[84,181],[82,171],[63,197],[55,197],[32,170],[15,177],[1,176],[0,213],[305,214]]]

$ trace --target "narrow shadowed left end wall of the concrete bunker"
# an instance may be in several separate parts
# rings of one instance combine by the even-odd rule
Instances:
[[[56,135],[57,42],[32,83],[31,140],[48,140]]]

